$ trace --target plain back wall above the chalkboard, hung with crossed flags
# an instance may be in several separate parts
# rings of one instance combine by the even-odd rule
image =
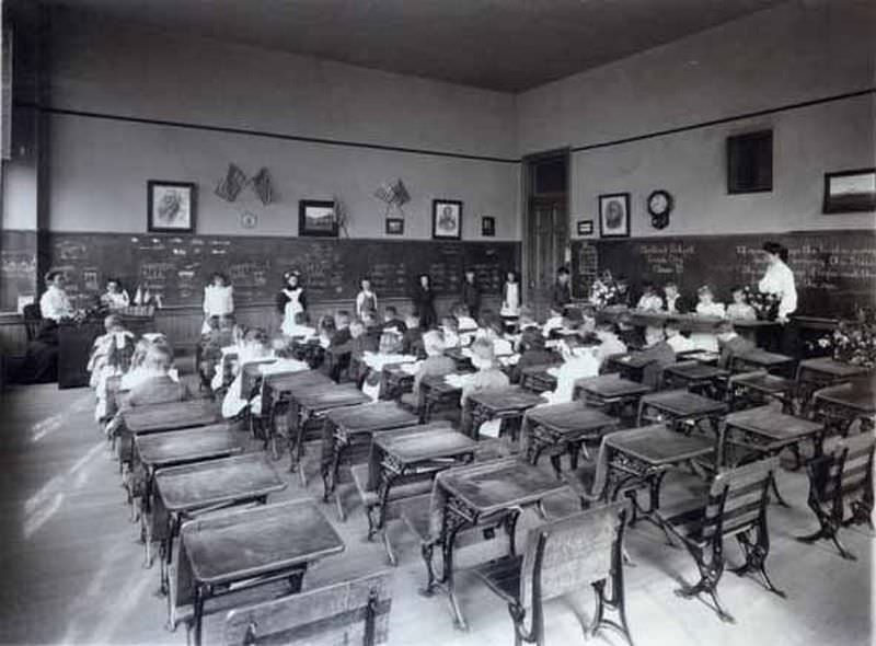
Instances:
[[[496,218],[497,239],[518,237],[510,94],[69,10],[53,13],[47,42],[51,230],[143,231],[146,181],[159,178],[198,184],[201,233],[295,235],[299,199],[337,197],[350,237],[380,238],[385,205],[373,192],[401,177],[412,196],[406,235],[430,238],[431,200],[448,198],[464,201],[463,238],[480,238],[481,216]],[[215,196],[230,162],[250,175],[266,166],[278,201],[264,207],[250,191],[234,204]],[[244,211],[258,217],[255,230],[241,228]]]

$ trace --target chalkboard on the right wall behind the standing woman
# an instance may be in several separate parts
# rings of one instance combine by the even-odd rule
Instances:
[[[718,300],[726,302],[734,285],[754,286],[763,276],[765,258],[761,246],[766,240],[788,249],[788,266],[799,296],[797,313],[848,316],[855,305],[876,305],[874,231],[578,240],[573,243],[573,285],[576,296],[587,296],[591,267],[579,258],[596,255],[600,270],[608,268],[615,276],[625,275],[634,292],[643,280],[662,284],[675,279],[684,293],[711,285],[717,290]]]

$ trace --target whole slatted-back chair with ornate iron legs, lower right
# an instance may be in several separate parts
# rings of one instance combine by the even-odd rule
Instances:
[[[769,487],[777,458],[759,460],[718,473],[704,500],[681,505],[677,512],[657,511],[660,526],[681,540],[696,562],[700,581],[676,591],[679,597],[695,597],[707,592],[722,621],[735,623],[721,605],[717,586],[724,573],[724,539],[736,537],[746,562],[733,569],[738,576],[753,570],[763,577],[771,592],[784,598],[785,593],[773,586],[766,574],[765,561],[770,553],[770,537],[766,530],[766,505]],[[752,541],[753,538],[753,541]]]

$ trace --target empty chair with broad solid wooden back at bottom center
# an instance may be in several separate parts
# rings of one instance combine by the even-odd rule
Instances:
[[[633,643],[621,552],[625,517],[625,505],[615,503],[548,522],[530,530],[522,556],[505,556],[475,568],[475,575],[508,603],[516,645],[542,646],[544,602],[587,584],[596,590],[596,613],[585,636],[611,627]],[[606,584],[611,597],[606,595]],[[606,619],[607,609],[618,613],[618,621]]]

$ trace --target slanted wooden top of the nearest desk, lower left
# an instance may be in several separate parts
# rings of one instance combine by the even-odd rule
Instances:
[[[201,584],[281,572],[344,551],[344,541],[312,500],[260,505],[183,526],[182,542]]]

